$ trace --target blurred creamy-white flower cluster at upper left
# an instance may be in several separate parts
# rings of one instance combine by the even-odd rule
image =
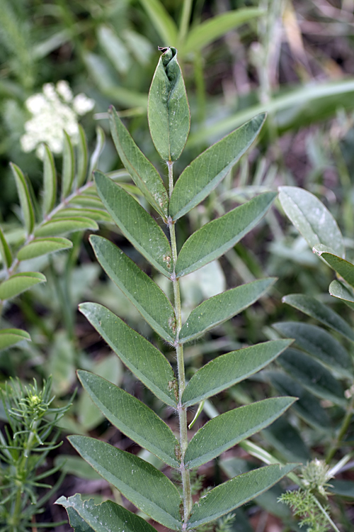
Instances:
[[[25,133],[21,137],[21,148],[24,152],[36,150],[40,159],[43,158],[46,143],[52,153],[62,153],[64,133],[66,131],[76,144],[79,138],[78,116],[93,109],[95,102],[78,94],[73,96],[68,82],[57,82],[43,85],[42,92],[33,94],[25,101],[25,106],[32,118],[25,122]]]

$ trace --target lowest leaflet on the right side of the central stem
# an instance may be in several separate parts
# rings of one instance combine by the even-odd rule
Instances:
[[[296,464],[267,465],[219,484],[195,503],[188,525],[195,528],[215,521],[265,492],[295,467]]]

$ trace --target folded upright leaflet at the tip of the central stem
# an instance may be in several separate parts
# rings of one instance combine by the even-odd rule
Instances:
[[[149,92],[147,116],[156,150],[166,162],[183,152],[190,112],[176,48],[163,48]]]

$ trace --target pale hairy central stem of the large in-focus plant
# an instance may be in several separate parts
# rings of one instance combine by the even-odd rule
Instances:
[[[167,163],[169,167],[169,196],[171,197],[173,190],[173,162]],[[178,418],[179,418],[179,430],[180,430],[180,445],[181,445],[181,477],[183,486],[183,528],[187,529],[188,517],[192,510],[192,493],[190,489],[190,475],[189,471],[184,466],[184,456],[188,445],[188,433],[187,433],[187,409],[182,404],[182,394],[185,389],[185,371],[184,371],[184,358],[183,358],[183,345],[178,342],[179,333],[182,328],[182,309],[181,309],[181,294],[179,281],[176,279],[176,262],[177,262],[177,245],[176,245],[176,231],[175,224],[169,218],[169,231],[171,236],[171,248],[173,259],[173,274],[171,280],[173,282],[173,297],[174,297],[174,310],[176,314],[176,340],[174,346],[176,348],[177,357],[177,370],[178,370]]]

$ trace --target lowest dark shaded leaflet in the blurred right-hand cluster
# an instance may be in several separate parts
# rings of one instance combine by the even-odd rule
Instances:
[[[285,460],[303,464],[311,460],[309,448],[299,431],[284,418],[277,419],[270,427],[265,428],[262,436],[278,450]]]

